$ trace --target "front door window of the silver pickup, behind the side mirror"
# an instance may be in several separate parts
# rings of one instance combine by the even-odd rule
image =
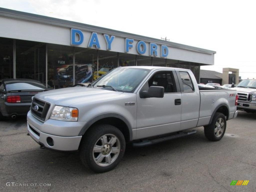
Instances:
[[[173,93],[176,92],[175,81],[173,78],[172,71],[163,71],[154,74],[148,80],[148,86],[159,86],[164,87],[165,93]]]

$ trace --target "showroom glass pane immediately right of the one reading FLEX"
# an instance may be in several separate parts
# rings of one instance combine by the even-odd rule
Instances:
[[[97,50],[75,47],[75,84],[92,82],[97,69]]]

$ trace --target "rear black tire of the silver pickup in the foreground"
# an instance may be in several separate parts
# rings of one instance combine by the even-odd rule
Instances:
[[[222,125],[222,122],[224,123],[223,127],[221,125],[217,126],[217,121],[219,124],[220,119],[221,119],[221,125]],[[216,112],[212,119],[211,124],[204,126],[205,137],[210,141],[221,140],[221,138],[225,134],[226,126],[227,126],[226,116],[223,115],[222,113]]]

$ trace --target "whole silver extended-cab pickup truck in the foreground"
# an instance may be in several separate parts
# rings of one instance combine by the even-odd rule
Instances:
[[[168,67],[119,67],[87,87],[36,94],[27,115],[41,146],[79,150],[95,172],[113,169],[127,142],[145,146],[193,134],[219,141],[237,116],[235,90],[198,88],[193,73]],[[185,131],[186,130],[186,131]]]

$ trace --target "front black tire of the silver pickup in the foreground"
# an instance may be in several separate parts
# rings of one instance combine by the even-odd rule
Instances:
[[[106,138],[107,142],[110,143],[110,140],[113,138],[117,138],[116,139],[116,143],[114,143],[114,145],[110,145],[111,146],[108,150],[106,150],[107,147],[105,147],[104,149],[106,151],[101,151],[104,150],[103,147],[104,146],[108,146],[107,144],[103,145],[103,136],[107,135]],[[112,136],[112,137],[111,137]],[[100,140],[101,139],[101,140]],[[103,172],[107,172],[112,170],[115,166],[117,166],[119,164],[119,162],[121,161],[124,152],[125,152],[125,138],[123,133],[116,127],[112,126],[112,125],[108,125],[108,124],[99,124],[96,125],[94,127],[92,127],[88,132],[85,133],[82,141],[81,141],[81,146],[80,146],[80,159],[81,162],[83,163],[83,165],[88,166],[90,169],[92,169],[94,172],[97,173],[103,173]],[[100,143],[99,143],[100,142]],[[102,148],[101,148],[101,152],[94,152],[94,146],[96,144],[101,144]],[[112,148],[113,147],[113,148]],[[119,153],[113,154],[112,151],[113,149],[120,149]],[[111,156],[113,155],[113,157],[111,157],[111,161],[113,160],[113,162],[111,162],[110,164],[107,162],[108,157],[104,156],[106,155],[105,153],[109,153],[107,154],[107,156]],[[118,155],[117,155],[118,154]],[[116,155],[116,156],[115,156]],[[98,164],[96,163],[97,161],[97,157],[99,156],[104,156],[102,162],[99,162]],[[104,162],[105,161],[105,162]],[[104,164],[104,165],[99,165],[99,164]],[[109,164],[109,165],[108,165]]]

